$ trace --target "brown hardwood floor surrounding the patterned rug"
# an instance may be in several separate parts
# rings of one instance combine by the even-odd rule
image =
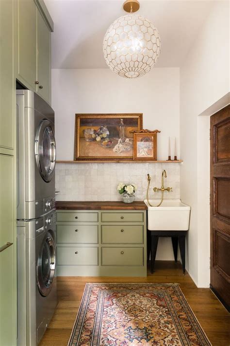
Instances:
[[[66,346],[87,282],[180,283],[190,307],[213,346],[230,346],[230,313],[210,289],[198,289],[191,277],[182,274],[180,263],[156,261],[155,273],[147,277],[58,278],[58,306],[39,346]]]

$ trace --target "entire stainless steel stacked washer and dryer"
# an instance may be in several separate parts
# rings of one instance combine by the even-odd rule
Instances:
[[[57,305],[54,111],[16,91],[17,345],[36,346]]]

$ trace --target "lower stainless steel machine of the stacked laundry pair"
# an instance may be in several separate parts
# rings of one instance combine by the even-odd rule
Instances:
[[[36,346],[57,305],[56,214],[17,221],[17,346]]]

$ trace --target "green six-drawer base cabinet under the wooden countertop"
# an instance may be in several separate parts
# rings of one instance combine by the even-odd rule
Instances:
[[[58,210],[58,276],[147,276],[146,210]]]

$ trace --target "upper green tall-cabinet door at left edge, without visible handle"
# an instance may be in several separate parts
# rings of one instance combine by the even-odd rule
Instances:
[[[13,0],[0,0],[0,147],[13,149]]]

